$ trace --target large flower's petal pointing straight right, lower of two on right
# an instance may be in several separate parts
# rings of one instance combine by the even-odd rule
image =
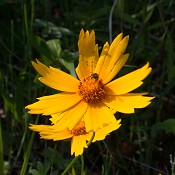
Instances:
[[[107,96],[103,101],[112,111],[125,114],[134,113],[136,108],[144,108],[154,97],[143,96],[143,93],[127,93],[124,95]]]

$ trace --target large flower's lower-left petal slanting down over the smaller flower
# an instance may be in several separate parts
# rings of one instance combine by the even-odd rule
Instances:
[[[68,128],[72,130],[78,122],[82,119],[85,112],[87,111],[88,105],[84,101],[81,101],[79,104],[71,108],[67,113],[63,115],[63,117],[54,124],[54,130],[59,131],[64,128]]]

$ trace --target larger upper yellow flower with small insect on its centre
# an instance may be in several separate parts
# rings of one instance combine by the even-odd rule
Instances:
[[[124,54],[129,36],[119,34],[112,44],[106,42],[101,55],[95,44],[95,33],[81,30],[78,41],[78,79],[54,67],[47,67],[38,60],[32,62],[42,76],[39,80],[60,93],[43,96],[39,101],[26,106],[30,114],[59,114],[59,128],[72,130],[83,119],[86,131],[96,131],[115,122],[114,113],[134,113],[135,108],[144,108],[154,97],[146,93],[130,93],[142,85],[151,72],[145,66],[111,81],[129,54]],[[111,82],[110,82],[111,81]]]

